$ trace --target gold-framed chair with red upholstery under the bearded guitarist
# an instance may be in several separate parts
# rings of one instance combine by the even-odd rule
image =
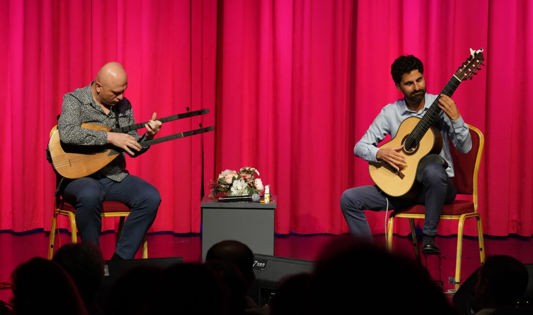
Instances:
[[[440,219],[458,220],[457,228],[457,260],[455,265],[455,288],[458,289],[461,284],[461,255],[463,249],[463,225],[466,219],[475,217],[478,227],[479,256],[481,264],[485,262],[485,251],[483,245],[483,227],[481,216],[478,212],[478,173],[481,163],[481,154],[483,151],[484,138],[478,128],[469,125],[470,135],[472,137],[472,149],[467,154],[457,151],[453,145],[450,146],[451,156],[454,160],[455,176],[451,178],[459,195],[471,195],[472,201],[455,200],[449,205],[444,205]],[[416,257],[420,260],[418,244],[415,234],[415,220],[425,218],[425,207],[423,205],[411,206],[407,209],[395,210],[389,217],[387,225],[387,247],[392,248],[392,231],[394,219],[397,217],[406,217],[409,219],[411,227],[411,237],[415,248]]]

